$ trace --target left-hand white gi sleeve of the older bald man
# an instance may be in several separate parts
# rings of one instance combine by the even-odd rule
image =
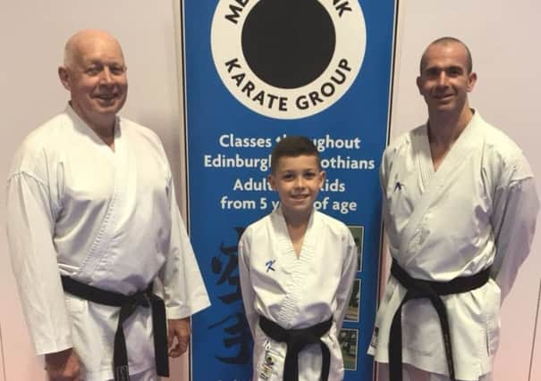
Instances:
[[[13,274],[37,354],[71,348],[71,324],[53,243],[55,208],[36,173],[16,171],[7,183],[7,237]]]

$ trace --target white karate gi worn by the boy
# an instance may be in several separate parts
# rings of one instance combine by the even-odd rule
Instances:
[[[287,345],[265,335],[258,324],[263,315],[284,329],[311,327],[333,317],[332,327],[321,340],[331,352],[329,380],[342,380],[338,334],[357,273],[357,250],[350,230],[339,220],[312,211],[297,258],[278,206],[241,236],[239,269],[242,300],[254,338],[253,379],[283,379]],[[274,365],[265,371],[267,356]],[[309,345],[299,355],[299,381],[317,380],[320,373],[320,346]]]

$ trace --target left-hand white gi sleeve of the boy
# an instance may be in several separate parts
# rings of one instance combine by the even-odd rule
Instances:
[[[244,304],[244,312],[248,319],[249,330],[252,337],[255,337],[256,327],[258,325],[258,312],[256,311],[255,301],[256,294],[251,283],[249,273],[249,229],[241,236],[239,241],[239,276],[241,277],[241,293],[242,303]]]

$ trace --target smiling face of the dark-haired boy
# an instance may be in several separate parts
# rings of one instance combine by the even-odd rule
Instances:
[[[323,186],[325,172],[319,170],[316,156],[284,156],[278,160],[277,168],[268,180],[278,191],[286,217],[308,217],[317,192]]]

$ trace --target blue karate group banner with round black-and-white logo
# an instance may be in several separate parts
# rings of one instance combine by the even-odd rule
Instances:
[[[190,238],[212,302],[192,319],[191,379],[251,379],[237,245],[277,204],[266,179],[272,146],[303,135],[326,171],[316,207],[348,225],[359,249],[339,337],[344,379],[371,380],[395,2],[181,5]]]

